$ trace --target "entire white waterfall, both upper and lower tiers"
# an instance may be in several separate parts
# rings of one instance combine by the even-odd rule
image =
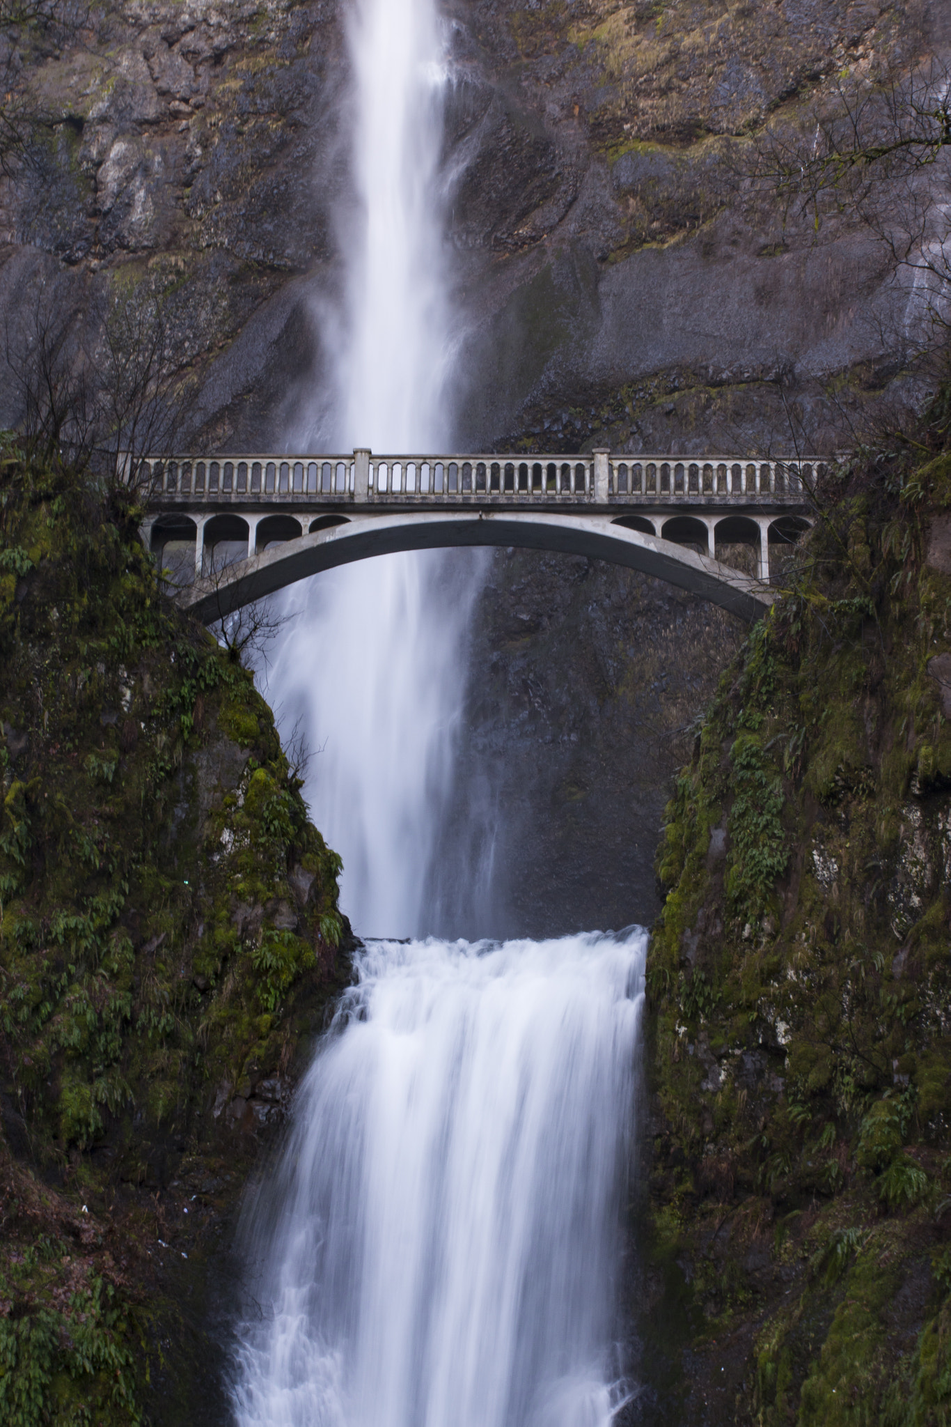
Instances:
[[[356,0],[349,41],[361,201],[345,321],[324,332],[334,440],[445,450],[435,0]],[[479,571],[455,551],[321,575],[275,659],[321,748],[307,792],[364,936],[419,935],[452,906],[435,839]],[[356,955],[245,1206],[241,1427],[606,1427],[644,946],[629,929]]]

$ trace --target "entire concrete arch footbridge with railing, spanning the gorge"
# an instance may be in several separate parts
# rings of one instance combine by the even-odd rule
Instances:
[[[817,459],[613,455],[150,457],[143,538],[202,621],[321,569],[399,549],[520,545],[595,555],[746,619],[770,552],[811,524]],[[749,545],[754,574],[716,558]]]

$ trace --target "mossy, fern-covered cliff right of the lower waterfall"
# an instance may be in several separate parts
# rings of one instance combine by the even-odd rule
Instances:
[[[680,1384],[663,1420],[951,1420],[947,434],[945,395],[920,441],[817,492],[667,808],[644,1354]]]

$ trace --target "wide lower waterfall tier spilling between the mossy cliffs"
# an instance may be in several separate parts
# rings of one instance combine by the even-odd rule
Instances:
[[[644,948],[361,953],[248,1206],[241,1427],[606,1427]]]

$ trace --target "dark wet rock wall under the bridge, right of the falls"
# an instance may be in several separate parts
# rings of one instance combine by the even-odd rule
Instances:
[[[649,926],[670,778],[746,626],[636,571],[510,549],[473,631],[438,929]]]

